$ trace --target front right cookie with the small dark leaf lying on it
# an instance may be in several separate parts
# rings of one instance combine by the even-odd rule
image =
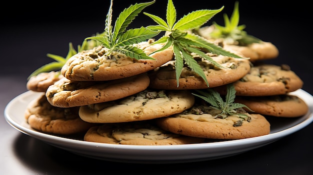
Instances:
[[[158,118],[156,124],[165,131],[207,139],[245,139],[270,132],[269,122],[260,114],[247,114],[248,119],[238,116],[216,118],[216,114],[220,113],[218,110],[205,108],[202,114],[190,112],[194,109],[197,111],[198,106],[181,114]]]

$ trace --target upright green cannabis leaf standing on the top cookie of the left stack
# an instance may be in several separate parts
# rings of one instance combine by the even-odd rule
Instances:
[[[106,56],[115,51],[123,53],[126,56],[135,59],[153,59],[147,56],[143,50],[134,46],[133,44],[146,41],[156,36],[160,31],[153,31],[145,27],[134,28],[126,30],[126,27],[133,21],[133,19],[141,12],[143,8],[154,3],[155,0],[145,3],[135,3],[125,8],[117,17],[114,27],[112,26],[112,3],[110,2],[109,10],[106,14],[105,28],[102,36],[91,36],[85,39],[93,39],[98,41],[101,45],[108,48],[109,51]]]

